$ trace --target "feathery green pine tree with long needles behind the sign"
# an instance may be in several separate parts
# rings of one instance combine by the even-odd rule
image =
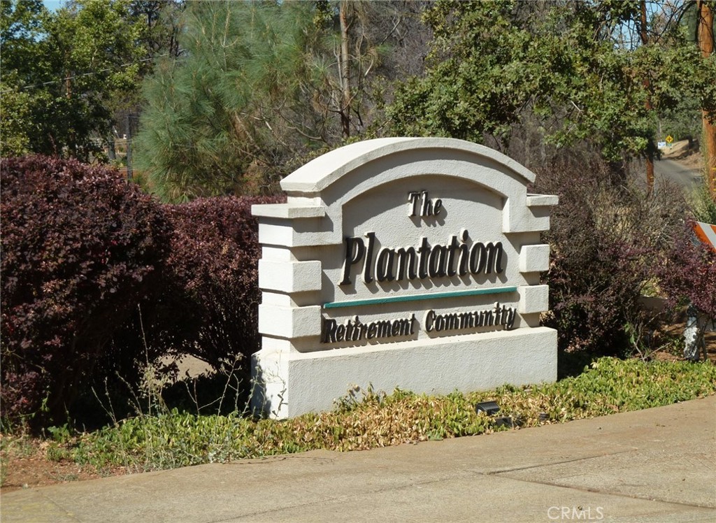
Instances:
[[[256,191],[372,131],[387,58],[420,51],[399,1],[191,2],[183,54],[145,83],[137,167],[165,201]],[[414,65],[414,62],[409,62]],[[412,69],[415,72],[415,69]],[[387,81],[382,81],[387,79]]]

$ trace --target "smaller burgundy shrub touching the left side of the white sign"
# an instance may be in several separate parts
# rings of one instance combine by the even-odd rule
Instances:
[[[278,201],[273,196],[200,198],[163,206],[173,236],[162,292],[142,304],[149,345],[167,354],[193,355],[215,369],[238,363],[248,370],[259,348],[261,300],[261,246],[251,206]]]

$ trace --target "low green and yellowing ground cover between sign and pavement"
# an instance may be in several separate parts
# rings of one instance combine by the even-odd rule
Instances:
[[[241,413],[195,416],[167,408],[100,431],[72,436],[54,430],[52,455],[93,469],[140,472],[178,466],[327,448],[352,451],[474,436],[545,423],[651,408],[716,393],[710,362],[644,362],[600,358],[584,373],[556,383],[503,386],[480,393],[429,396],[395,390],[390,395],[354,388],[334,411],[286,421],[255,420]],[[514,428],[475,412],[496,400]],[[6,444],[4,444],[6,446]]]

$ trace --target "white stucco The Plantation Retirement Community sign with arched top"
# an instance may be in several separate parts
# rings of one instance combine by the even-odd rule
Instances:
[[[256,406],[332,408],[353,385],[449,393],[556,379],[539,327],[556,196],[505,155],[448,138],[347,145],[281,182],[259,217]]]

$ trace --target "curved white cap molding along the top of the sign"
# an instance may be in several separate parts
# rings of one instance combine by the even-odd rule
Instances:
[[[321,193],[343,176],[374,160],[386,160],[390,156],[415,156],[421,151],[431,151],[433,155],[439,151],[438,157],[445,160],[474,156],[475,163],[489,162],[500,171],[510,172],[523,186],[535,180],[532,171],[484,145],[455,138],[377,138],[345,145],[311,160],[284,178],[281,188],[289,194]]]

